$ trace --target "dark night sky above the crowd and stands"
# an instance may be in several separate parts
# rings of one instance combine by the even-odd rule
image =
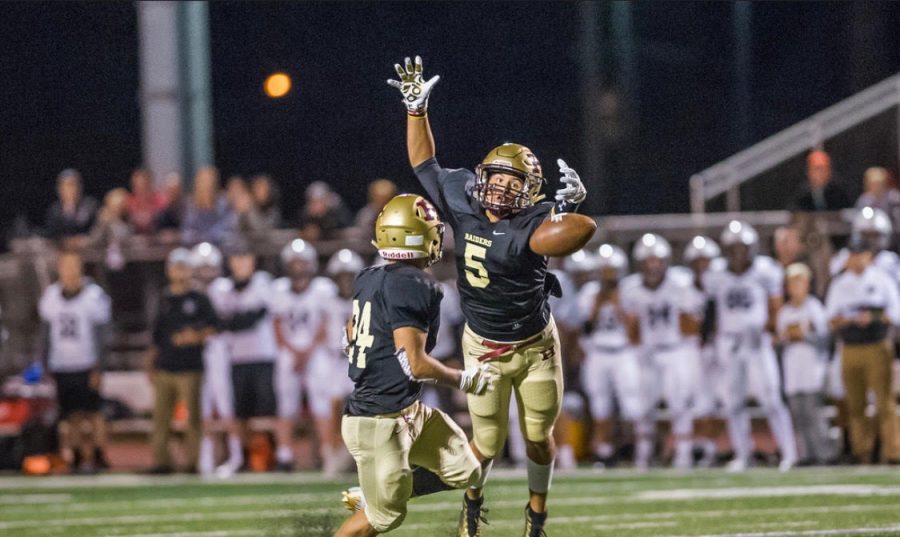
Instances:
[[[573,3],[214,3],[217,164],[223,175],[271,172],[289,214],[312,180],[354,207],[375,177],[414,189],[402,105],[384,80],[419,53],[442,77],[431,117],[444,165],[472,167],[515,140],[550,172],[557,156],[577,168],[577,13]],[[731,13],[727,3],[634,5],[636,130],[631,160],[609,178],[611,212],[685,211],[690,174],[746,145]],[[749,142],[900,70],[896,4],[763,3],[752,16]],[[24,213],[39,223],[64,167],[98,197],[124,184],[140,162],[134,6],[5,4],[0,36],[0,222]],[[609,48],[601,62],[614,71]],[[274,70],[295,84],[277,101],[261,91]]]

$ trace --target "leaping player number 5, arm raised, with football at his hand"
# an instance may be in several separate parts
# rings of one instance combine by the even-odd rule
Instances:
[[[563,395],[559,338],[547,303],[559,292],[547,271],[547,256],[566,256],[593,235],[594,221],[575,213],[584,185],[558,160],[563,187],[556,203],[538,203],[544,177],[538,159],[519,144],[491,150],[475,173],[442,168],[435,160],[428,123],[428,96],[438,77],[425,81],[422,60],[396,65],[400,80],[388,84],[403,94],[409,162],[431,201],[453,228],[458,287],[466,328],[467,367],[490,364],[496,389],[469,395],[472,448],[482,461],[481,481],[467,490],[458,535],[480,535],[482,488],[491,461],[503,448],[513,391],[528,455],[525,535],[543,534],[547,491],[555,457],[553,425]]]

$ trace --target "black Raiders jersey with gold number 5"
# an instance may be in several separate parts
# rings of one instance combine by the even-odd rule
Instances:
[[[415,169],[431,202],[453,228],[456,270],[463,315],[478,335],[519,341],[540,332],[550,320],[547,258],[528,241],[550,214],[539,203],[491,223],[471,192],[475,174],[441,168],[430,159]]]

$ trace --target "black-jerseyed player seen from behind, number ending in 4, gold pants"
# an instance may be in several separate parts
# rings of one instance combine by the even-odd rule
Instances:
[[[375,245],[388,264],[362,271],[353,285],[346,347],[355,387],[341,435],[356,460],[359,487],[344,493],[355,513],[338,537],[368,537],[399,526],[406,504],[481,479],[465,433],[449,416],[421,403],[423,382],[472,394],[491,390],[486,365],[449,368],[434,347],[443,293],[424,272],[441,257],[444,224],[421,196],[404,194],[375,221]]]

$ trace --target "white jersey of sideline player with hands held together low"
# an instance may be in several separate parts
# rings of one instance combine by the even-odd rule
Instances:
[[[329,320],[328,309],[337,295],[337,286],[328,278],[313,278],[302,293],[291,290],[289,278],[279,278],[272,285],[269,301],[272,316],[280,319],[284,336],[296,349],[312,345],[322,323]]]

